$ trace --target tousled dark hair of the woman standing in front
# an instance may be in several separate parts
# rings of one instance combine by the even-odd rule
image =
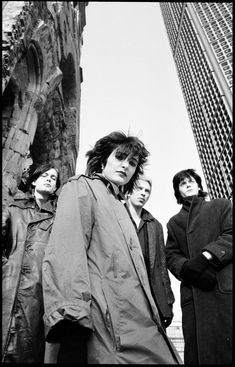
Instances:
[[[92,176],[95,173],[101,173],[108,157],[115,149],[126,156],[131,155],[139,158],[134,175],[123,188],[124,193],[132,192],[139,175],[143,174],[144,164],[149,156],[143,142],[135,136],[127,136],[121,131],[114,131],[99,139],[94,148],[86,153],[88,157],[86,174]]]

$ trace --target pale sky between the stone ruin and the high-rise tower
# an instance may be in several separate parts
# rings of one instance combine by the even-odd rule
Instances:
[[[137,135],[150,152],[146,174],[153,181],[146,204],[163,225],[180,210],[172,178],[202,168],[166,29],[156,2],[89,2],[81,49],[80,148],[85,153],[114,130]],[[175,320],[181,318],[179,282],[172,279]]]

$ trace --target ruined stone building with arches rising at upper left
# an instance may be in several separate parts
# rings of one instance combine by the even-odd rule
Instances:
[[[29,152],[33,170],[52,162],[61,181],[79,149],[80,53],[87,2],[2,5],[3,205],[18,190]]]

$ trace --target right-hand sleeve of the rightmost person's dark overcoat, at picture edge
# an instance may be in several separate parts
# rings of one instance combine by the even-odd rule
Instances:
[[[232,261],[232,204],[227,199],[215,199],[219,212],[220,235],[203,247],[202,251],[209,251],[219,262],[221,267]],[[216,213],[217,211],[215,211]]]

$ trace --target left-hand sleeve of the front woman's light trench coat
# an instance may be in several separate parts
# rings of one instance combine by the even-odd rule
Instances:
[[[78,328],[92,329],[87,249],[92,232],[93,200],[83,178],[69,181],[60,193],[43,261],[46,336],[64,320],[73,321]]]

